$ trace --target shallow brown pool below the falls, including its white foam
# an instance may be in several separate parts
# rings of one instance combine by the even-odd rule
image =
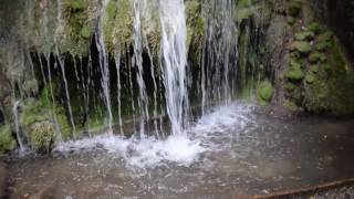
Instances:
[[[354,177],[354,119],[215,108],[166,140],[97,136],[13,158],[11,198],[235,198]]]

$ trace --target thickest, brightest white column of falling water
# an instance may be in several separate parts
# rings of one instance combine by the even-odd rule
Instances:
[[[186,86],[187,27],[183,0],[159,1],[163,75],[167,114],[174,135],[183,132],[188,97]]]

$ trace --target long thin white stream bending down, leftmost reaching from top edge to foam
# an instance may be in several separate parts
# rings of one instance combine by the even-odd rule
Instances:
[[[98,50],[98,57],[100,57],[100,70],[102,74],[102,88],[103,95],[105,100],[105,104],[107,107],[108,114],[108,133],[113,134],[113,114],[112,114],[112,103],[111,103],[111,93],[110,93],[110,67],[108,67],[108,57],[106,53],[106,48],[103,39],[103,19],[105,17],[106,4],[107,1],[104,0],[102,2],[102,8],[98,17],[98,31],[96,32],[96,46]]]

